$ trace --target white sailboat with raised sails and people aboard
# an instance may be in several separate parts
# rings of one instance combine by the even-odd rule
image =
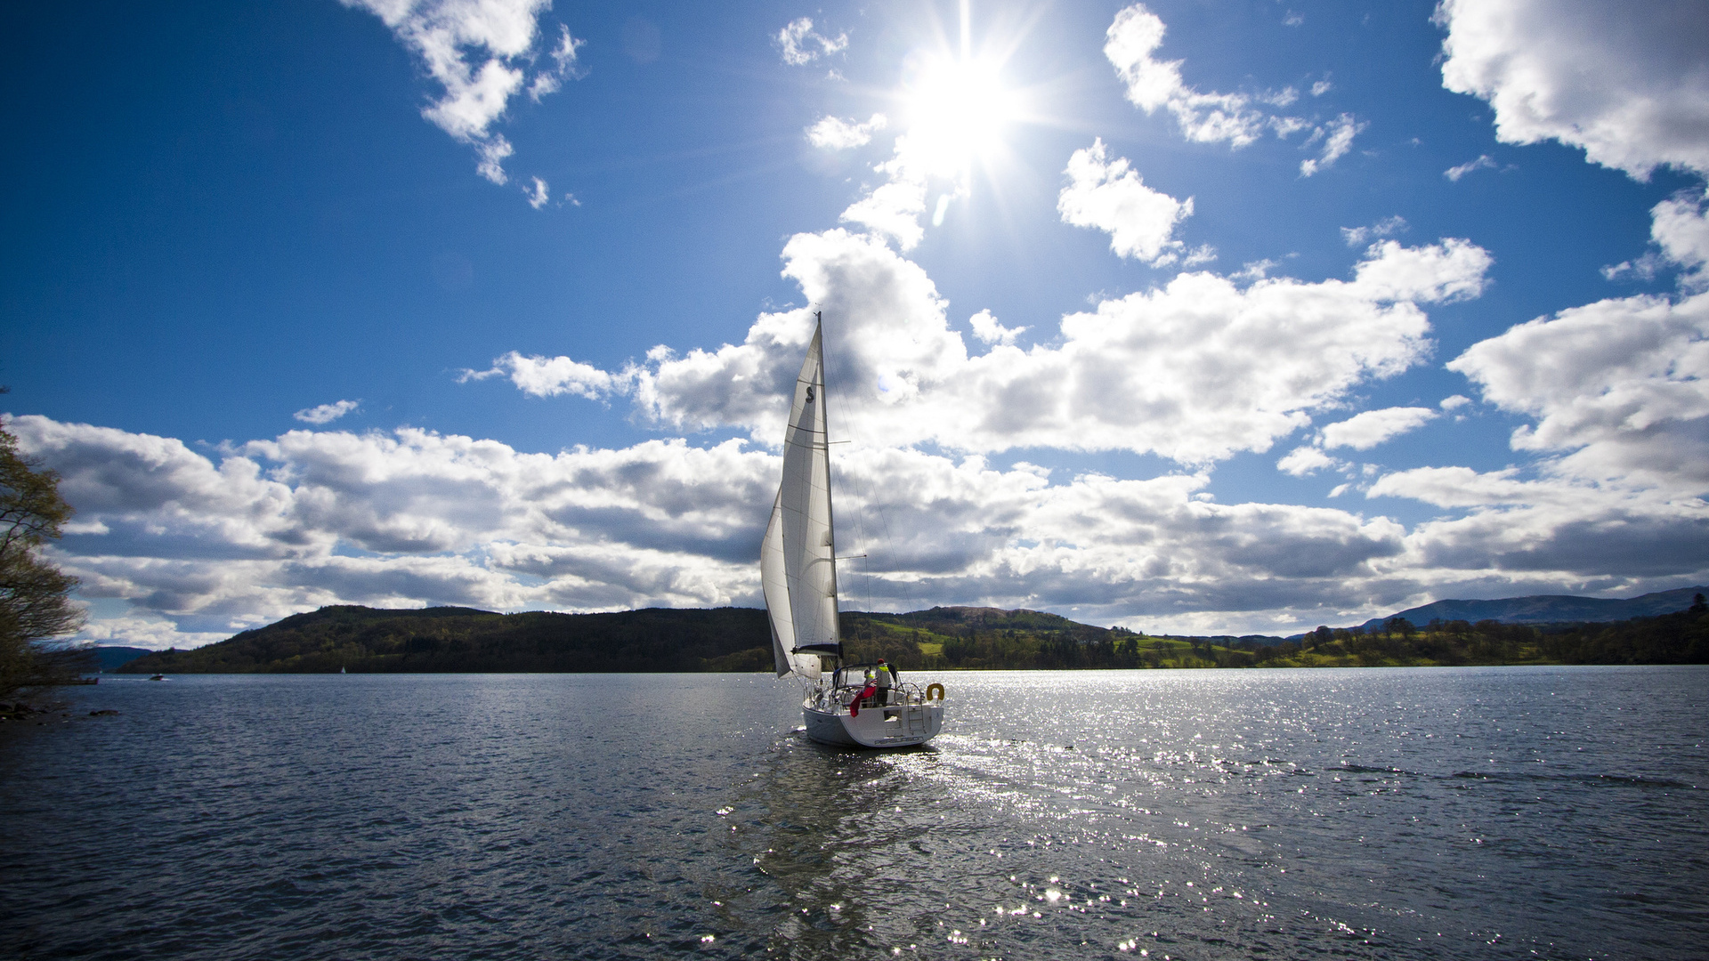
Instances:
[[[943,727],[943,686],[896,682],[880,663],[843,663],[837,554],[831,523],[824,318],[795,378],[783,436],[783,482],[759,551],[778,677],[805,684],[807,735],[843,747],[913,747]]]

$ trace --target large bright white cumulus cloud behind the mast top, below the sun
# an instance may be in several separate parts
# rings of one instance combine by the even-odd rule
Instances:
[[[849,429],[960,451],[1131,450],[1179,463],[1268,450],[1311,410],[1418,363],[1429,349],[1418,304],[1477,296],[1490,263],[1468,241],[1386,241],[1365,251],[1352,280],[1241,286],[1181,274],[1065,316],[1054,345],[998,342],[976,356],[925,270],[875,238],[798,234],[784,262],[805,301],[832,318],[827,357]],[[802,308],[762,315],[742,344],[655,352],[610,381],[567,357],[552,369],[573,371],[588,397],[622,383],[660,426],[742,427],[771,445],[783,434],[776,398],[810,332]],[[485,376],[511,373],[521,386],[547,364],[501,357]],[[528,390],[550,383],[540,376]]]

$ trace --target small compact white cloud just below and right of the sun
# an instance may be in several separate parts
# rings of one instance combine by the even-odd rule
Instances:
[[[1109,233],[1109,250],[1152,265],[1174,262],[1183,248],[1174,227],[1193,215],[1193,198],[1176,200],[1145,186],[1126,157],[1109,159],[1102,140],[1075,150],[1063,171],[1070,185],[1056,198],[1065,224]]]

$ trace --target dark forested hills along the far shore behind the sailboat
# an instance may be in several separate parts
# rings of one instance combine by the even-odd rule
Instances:
[[[1395,617],[1376,629],[1282,638],[1159,638],[1037,610],[933,607],[843,612],[853,662],[918,669],[1401,667],[1470,663],[1706,663],[1709,604],[1615,624],[1501,624]],[[126,674],[677,672],[769,670],[766,612],[646,609],[494,614],[468,607],[323,607]]]

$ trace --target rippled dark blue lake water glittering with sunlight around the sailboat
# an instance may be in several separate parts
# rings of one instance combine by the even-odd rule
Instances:
[[[1709,956],[1709,669],[907,681],[106,677],[0,730],[0,956]]]

